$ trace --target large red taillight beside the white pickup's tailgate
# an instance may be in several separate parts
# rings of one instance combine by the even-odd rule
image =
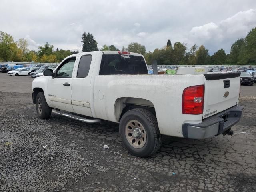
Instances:
[[[204,112],[204,85],[187,87],[182,94],[182,113],[199,115]]]

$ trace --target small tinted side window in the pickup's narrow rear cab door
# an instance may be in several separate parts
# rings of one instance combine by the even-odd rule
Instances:
[[[87,77],[88,76],[90,66],[91,66],[91,61],[92,61],[91,55],[83,55],[80,58],[76,77]]]

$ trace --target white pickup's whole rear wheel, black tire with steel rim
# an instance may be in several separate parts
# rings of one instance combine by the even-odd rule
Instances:
[[[156,117],[146,109],[126,112],[120,120],[119,133],[128,151],[138,157],[154,154],[162,144]]]

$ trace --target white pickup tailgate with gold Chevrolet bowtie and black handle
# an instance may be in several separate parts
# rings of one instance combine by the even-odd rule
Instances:
[[[240,73],[204,74],[203,118],[222,112],[238,104]]]

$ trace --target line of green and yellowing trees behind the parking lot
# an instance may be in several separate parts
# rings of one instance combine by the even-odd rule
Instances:
[[[82,52],[98,51],[98,43],[89,32],[82,34]],[[10,34],[0,31],[0,61],[15,62],[60,62],[65,57],[78,53],[70,50],[56,49],[46,42],[44,46],[39,46],[38,51],[28,50],[28,41],[19,39],[14,42]],[[104,45],[102,51],[119,51],[114,45]],[[231,46],[230,54],[220,48],[212,56],[204,45],[194,44],[188,49],[187,44],[175,42],[172,46],[170,40],[166,46],[156,48],[153,52],[146,51],[146,47],[137,42],[122,46],[122,51],[136,52],[143,54],[147,64],[157,60],[161,65],[255,65],[256,64],[256,28],[253,28],[245,38],[236,40]]]

